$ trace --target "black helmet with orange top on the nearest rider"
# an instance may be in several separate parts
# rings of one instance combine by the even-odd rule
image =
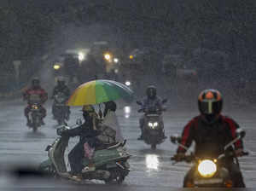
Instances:
[[[222,110],[223,99],[218,90],[203,90],[198,96],[198,108],[206,116],[218,116]]]

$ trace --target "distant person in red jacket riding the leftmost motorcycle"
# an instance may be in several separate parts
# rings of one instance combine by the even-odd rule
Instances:
[[[28,106],[25,108],[24,113],[26,116],[26,125],[30,126],[31,125],[31,120],[29,119],[29,113],[32,109],[32,100],[31,97],[32,96],[38,96],[38,98],[40,99],[39,101],[39,109],[40,109],[40,113],[41,115],[41,124],[44,125],[44,118],[46,116],[46,109],[43,107],[42,104],[44,104],[45,101],[47,101],[48,99],[48,94],[47,92],[41,88],[40,85],[40,80],[38,78],[33,78],[32,79],[32,86],[30,88],[28,88],[24,93],[23,93],[23,100],[27,101]]]

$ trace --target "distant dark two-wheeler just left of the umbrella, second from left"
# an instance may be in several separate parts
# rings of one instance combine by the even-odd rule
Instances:
[[[58,124],[66,124],[69,119],[69,107],[66,105],[67,96],[59,92],[54,96],[53,115]]]

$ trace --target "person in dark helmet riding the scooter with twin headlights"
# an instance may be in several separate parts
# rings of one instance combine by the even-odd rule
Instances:
[[[150,109],[155,108],[159,114],[162,113],[163,107],[162,107],[162,101],[159,96],[156,95],[157,91],[154,85],[149,85],[146,90],[147,97],[143,99],[143,109]],[[141,129],[141,135],[137,138],[138,140],[143,140],[143,125],[144,125],[144,116],[139,120],[140,123],[140,129]],[[162,119],[161,119],[162,121]],[[163,123],[162,123],[163,124]]]

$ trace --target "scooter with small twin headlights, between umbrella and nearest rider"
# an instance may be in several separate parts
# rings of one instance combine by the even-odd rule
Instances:
[[[165,99],[162,103],[164,104],[166,101]],[[137,101],[137,104],[143,106],[141,101]],[[160,114],[163,111],[166,111],[166,109],[159,111],[155,107],[141,108],[138,110],[138,113],[144,113],[143,141],[151,145],[151,149],[153,150],[156,149],[157,144],[166,140],[164,123]]]

